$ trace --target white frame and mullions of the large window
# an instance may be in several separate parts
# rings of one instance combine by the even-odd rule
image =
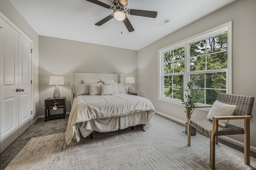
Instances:
[[[215,28],[212,28],[210,30],[207,30],[205,32],[202,32],[200,34],[197,34],[195,36],[192,36],[190,38],[186,38],[185,40],[181,40],[179,42],[173,43],[171,45],[168,45],[166,47],[163,47],[161,49],[158,49],[158,100],[160,101],[165,101],[169,103],[174,103],[178,105],[182,105],[182,102],[178,99],[172,99],[168,97],[164,97],[164,57],[163,54],[166,51],[170,51],[171,49],[178,48],[184,46],[185,50],[185,68],[184,68],[184,86],[188,83],[189,81],[189,74],[190,73],[202,73],[200,71],[193,71],[189,72],[189,62],[190,58],[188,56],[189,54],[189,45],[192,42],[197,42],[198,40],[204,40],[208,37],[212,37],[214,35],[218,35],[222,32],[228,31],[228,69],[227,69],[227,74],[226,74],[226,93],[227,94],[232,94],[232,21],[227,22],[225,24],[222,24],[220,26],[217,26]],[[214,72],[217,72],[214,70]],[[180,73],[179,73],[180,74]],[[185,92],[184,92],[184,98],[185,98]]]

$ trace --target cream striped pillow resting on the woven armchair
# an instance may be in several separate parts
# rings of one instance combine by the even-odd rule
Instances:
[[[234,111],[236,109],[236,105],[228,105],[225,103],[222,103],[220,101],[214,101],[208,115],[207,119],[212,120],[213,116],[230,116],[233,115]],[[226,124],[229,122],[229,120],[219,121],[219,125],[222,127],[226,127]]]

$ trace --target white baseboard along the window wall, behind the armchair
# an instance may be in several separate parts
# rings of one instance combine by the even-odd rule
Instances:
[[[166,115],[166,114],[161,113],[161,112],[158,112],[158,111],[156,111],[156,113],[159,114],[159,115],[162,115],[162,116],[164,116],[164,117],[167,117],[167,118],[169,118],[169,119],[172,119],[172,120],[174,120],[174,121],[177,121],[177,122],[179,122],[179,123],[182,123],[182,124],[185,124],[185,123],[186,123],[185,121],[182,121],[182,120],[177,119],[177,118],[175,118],[175,117],[172,117],[172,116],[170,116],[170,115]],[[243,143],[243,142],[240,142],[240,141],[238,141],[238,140],[234,140],[234,139],[229,138],[229,137],[227,137],[227,136],[219,136],[219,138],[222,139],[222,140],[225,140],[225,141],[227,141],[227,142],[230,142],[230,143],[232,143],[232,144],[235,144],[235,145],[237,145],[237,146],[240,146],[240,147],[244,148],[244,143]],[[256,152],[256,147],[250,146],[250,150],[251,150],[252,152]]]

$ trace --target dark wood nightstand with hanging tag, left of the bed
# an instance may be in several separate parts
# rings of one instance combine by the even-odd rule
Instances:
[[[53,109],[54,103],[56,103],[57,109],[63,108],[63,113],[50,115],[50,109]],[[66,97],[60,98],[47,98],[44,100],[44,121],[47,122],[47,119],[55,119],[62,117],[65,119],[66,117]]]

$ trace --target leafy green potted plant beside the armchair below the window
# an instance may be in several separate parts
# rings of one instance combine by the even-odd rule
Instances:
[[[186,106],[191,106],[191,107],[195,107],[197,106],[196,103],[198,103],[199,101],[201,101],[204,98],[204,89],[200,88],[200,86],[196,86],[194,83],[195,79],[192,79],[190,81],[188,81],[187,83],[187,89],[184,88],[184,90],[187,92],[187,94],[185,94],[186,97],[186,101],[185,99],[182,99],[182,105]],[[190,109],[189,110],[189,117],[191,119],[191,115],[193,113],[194,109]],[[186,111],[185,111],[186,112]],[[185,133],[187,134],[187,127],[188,124],[185,123]],[[196,135],[196,128],[191,127],[191,136],[195,136]]]

